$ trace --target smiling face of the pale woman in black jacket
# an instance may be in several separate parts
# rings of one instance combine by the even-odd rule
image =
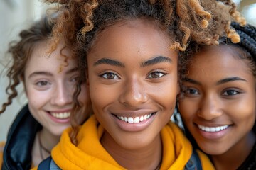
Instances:
[[[53,135],[60,136],[70,125],[70,111],[73,107],[73,92],[78,78],[76,60],[68,60],[68,66],[60,72],[63,64],[58,48],[49,56],[46,42],[38,42],[34,47],[24,72],[24,86],[28,97],[28,107],[43,128]],[[64,55],[70,55],[68,50]],[[86,103],[87,92],[85,86],[79,96],[79,101]],[[81,115],[80,119],[83,115]]]

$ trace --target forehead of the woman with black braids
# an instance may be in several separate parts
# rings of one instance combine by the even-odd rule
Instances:
[[[227,45],[210,46],[193,56],[188,75],[213,79],[241,74],[252,74],[247,60],[240,59],[234,47]]]

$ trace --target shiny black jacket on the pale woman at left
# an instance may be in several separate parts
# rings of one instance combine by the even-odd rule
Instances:
[[[33,142],[36,132],[41,128],[42,126],[29,112],[28,105],[24,106],[9,128],[2,170],[31,169]]]

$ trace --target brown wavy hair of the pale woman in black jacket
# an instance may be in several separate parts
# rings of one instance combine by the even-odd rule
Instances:
[[[24,79],[26,63],[30,60],[36,42],[41,42],[50,37],[53,23],[47,16],[43,16],[40,21],[33,23],[31,28],[22,30],[19,33],[20,40],[12,41],[9,44],[8,52],[11,54],[11,67],[7,70],[9,85],[6,87],[8,100],[2,104],[0,114],[4,113],[6,107],[11,105],[12,100],[18,95],[16,86]]]

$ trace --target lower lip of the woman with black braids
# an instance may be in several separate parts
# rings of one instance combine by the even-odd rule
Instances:
[[[228,131],[230,130],[231,126],[228,126],[228,128],[226,128],[225,130],[220,130],[218,132],[206,132],[203,130],[200,130],[198,128],[198,126],[196,125],[196,130],[198,130],[198,132],[206,139],[209,140],[218,140],[221,137],[223,137],[226,133],[228,133]]]

